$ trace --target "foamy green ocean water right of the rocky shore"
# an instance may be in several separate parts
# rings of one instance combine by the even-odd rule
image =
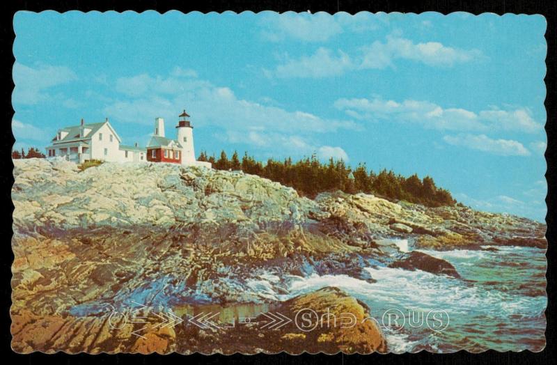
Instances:
[[[290,295],[324,286],[342,288],[370,306],[391,352],[540,351],[545,345],[547,306],[545,250],[496,249],[420,250],[452,263],[462,279],[421,270],[368,267],[376,283],[346,275],[313,274],[292,279]],[[400,313],[400,317],[389,322],[385,313]]]

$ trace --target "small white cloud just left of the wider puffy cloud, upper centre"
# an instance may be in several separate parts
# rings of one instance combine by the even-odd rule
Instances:
[[[352,68],[350,57],[338,51],[338,56],[330,49],[320,47],[311,56],[300,59],[288,59],[283,65],[278,65],[272,75],[276,77],[329,77],[342,75],[345,70]]]

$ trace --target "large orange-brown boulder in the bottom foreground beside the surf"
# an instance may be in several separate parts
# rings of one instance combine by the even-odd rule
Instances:
[[[368,306],[338,288],[322,288],[269,308],[272,311],[260,313],[253,323],[233,328],[220,323],[217,331],[181,327],[177,350],[204,354],[216,350],[225,354],[285,351],[295,355],[388,350],[384,334],[370,318]]]

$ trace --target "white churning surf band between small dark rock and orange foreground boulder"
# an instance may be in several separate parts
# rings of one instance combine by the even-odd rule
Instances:
[[[391,306],[406,309],[449,309],[453,315],[469,315],[472,312],[508,315],[528,312],[540,304],[532,297],[510,295],[499,290],[485,290],[478,286],[431,274],[421,270],[409,271],[391,267],[366,267],[376,283],[369,283],[347,275],[317,275],[292,279],[290,297],[308,293],[324,286],[336,286],[350,295],[364,300],[372,309],[388,309]],[[543,300],[543,298],[540,298]]]

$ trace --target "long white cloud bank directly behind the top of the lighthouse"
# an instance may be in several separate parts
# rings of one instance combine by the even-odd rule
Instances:
[[[194,126],[213,127],[221,140],[279,154],[309,155],[322,147],[317,134],[360,128],[350,120],[322,118],[307,111],[244,100],[230,88],[192,78],[190,73],[173,72],[168,77],[136,75],[120,78],[116,85],[116,90],[127,98],[109,102],[103,109],[105,115],[144,125],[152,125],[155,117],[162,116],[169,135],[168,128],[184,108]]]

